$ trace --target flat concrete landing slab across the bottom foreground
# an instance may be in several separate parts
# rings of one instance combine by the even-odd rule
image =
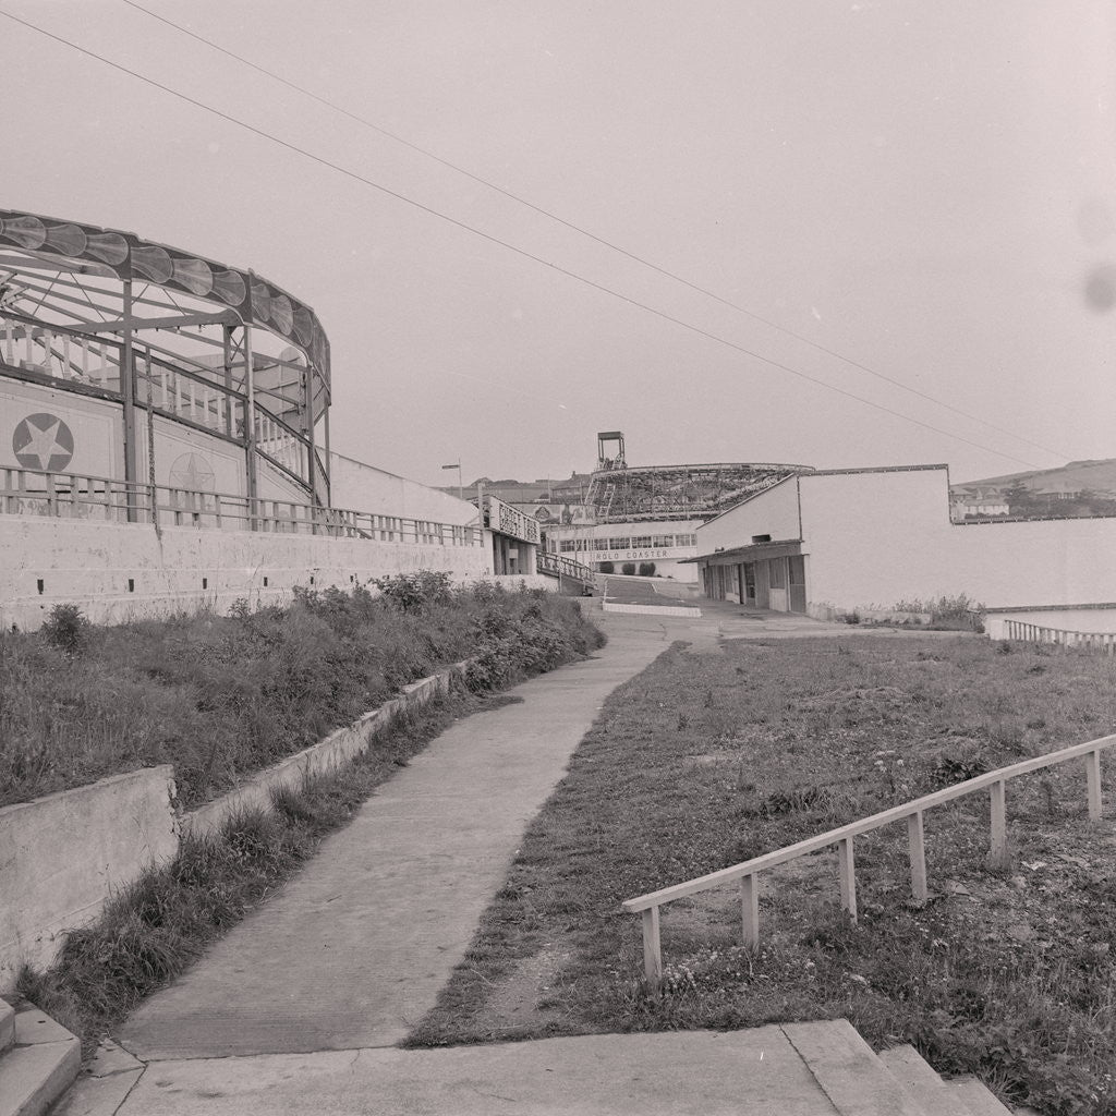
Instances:
[[[150,1066],[122,1116],[834,1116],[780,1027]],[[863,1107],[862,1116],[894,1116]],[[73,1116],[73,1114],[69,1114]]]

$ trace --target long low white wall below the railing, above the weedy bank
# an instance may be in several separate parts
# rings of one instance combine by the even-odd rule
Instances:
[[[0,514],[0,624],[26,629],[60,602],[97,623],[119,623],[202,605],[224,612],[238,598],[283,600],[296,585],[348,588],[420,569],[475,580],[491,574],[491,552],[191,527],[166,527],[160,539],[150,525]]]

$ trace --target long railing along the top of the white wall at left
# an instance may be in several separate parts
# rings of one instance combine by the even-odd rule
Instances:
[[[446,547],[484,545],[483,532],[474,526],[7,466],[0,468],[0,512],[118,523],[128,522],[131,512],[132,521],[174,527]]]

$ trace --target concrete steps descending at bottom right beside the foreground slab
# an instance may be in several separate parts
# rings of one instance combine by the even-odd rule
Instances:
[[[839,1116],[1011,1116],[975,1077],[943,1079],[912,1046],[874,1054],[844,1019],[782,1030]]]

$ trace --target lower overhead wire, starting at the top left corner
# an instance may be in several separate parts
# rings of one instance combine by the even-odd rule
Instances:
[[[26,27],[29,30],[38,31],[46,38],[52,39],[55,42],[60,42],[64,46],[70,47],[73,50],[78,51],[78,54],[85,55],[88,58],[94,58],[97,61],[103,62],[104,65],[109,66],[122,74],[127,74],[128,77],[136,78],[137,80],[143,81],[146,85],[153,86],[156,89],[161,89],[163,93],[170,94],[172,97],[177,97],[180,100],[184,100],[186,102],[186,104],[193,105],[195,108],[201,108],[203,112],[210,113],[211,115],[217,116],[220,119],[228,122],[229,124],[234,124],[238,127],[244,128],[247,132],[251,132],[253,135],[257,135],[260,138],[269,140],[272,143],[278,144],[280,147],[286,148],[287,151],[295,152],[295,154],[301,155],[305,158],[309,158],[315,163],[319,163],[321,166],[329,167],[329,170],[336,171],[338,174],[341,174],[345,177],[353,179],[354,181],[360,182],[366,186],[371,186],[373,190],[376,190],[379,193],[386,194],[389,198],[394,198],[396,201],[401,201],[406,205],[411,205],[414,209],[421,210],[423,213],[427,213],[430,217],[437,218],[439,220],[444,221],[448,224],[452,224],[458,229],[462,229],[465,232],[471,232],[474,235],[481,237],[482,239],[489,241],[490,243],[498,244],[501,248],[506,248],[508,251],[514,252],[517,256],[521,256],[525,259],[532,260],[536,263],[541,263],[543,267],[550,268],[554,271],[557,271],[560,275],[566,276],[567,278],[574,279],[577,282],[584,283],[587,287],[591,287],[594,290],[598,290],[605,295],[609,295],[613,298],[617,298],[622,302],[626,302],[628,306],[633,306],[636,307],[637,309],[645,310],[648,314],[653,314],[655,317],[661,318],[664,321],[670,321],[676,326],[680,326],[683,329],[687,329],[691,333],[698,334],[701,337],[705,337],[709,340],[715,341],[719,345],[724,345],[725,347],[734,349],[738,353],[742,353],[745,356],[753,357],[757,360],[762,360],[764,364],[768,364],[773,368],[779,368],[780,371],[789,373],[792,376],[797,376],[799,379],[805,379],[808,383],[815,384],[818,387],[824,387],[827,391],[836,393],[837,395],[843,395],[846,398],[855,400],[857,403],[863,403],[865,406],[873,407],[874,410],[881,411],[884,414],[892,415],[895,419],[902,419],[906,422],[913,423],[916,426],[922,426],[924,430],[933,431],[935,434],[942,434],[945,437],[953,439],[954,441],[958,442],[963,442],[965,445],[970,445],[985,453],[992,453],[995,456],[1003,458],[1008,461],[1016,461],[1019,462],[1020,464],[1028,465],[1032,469],[1042,468],[1041,465],[1038,465],[1032,461],[1027,461],[1024,458],[1018,458],[1014,454],[1004,453],[1001,450],[993,450],[991,446],[987,446],[980,442],[973,442],[971,439],[964,437],[961,434],[955,434],[952,431],[942,430],[940,426],[934,426],[931,423],[923,422],[923,420],[921,419],[914,419],[911,415],[903,414],[901,411],[894,411],[891,407],[884,406],[882,403],[874,403],[872,400],[866,400],[863,396],[856,395],[854,392],[849,392],[843,387],[837,387],[834,384],[826,383],[826,381],[824,379],[818,379],[817,377],[811,376],[808,373],[801,372],[798,368],[792,368],[790,365],[783,364],[780,360],[776,360],[775,358],[769,356],[763,356],[761,353],[756,353],[754,350],[747,348],[743,345],[738,345],[735,341],[731,341],[725,337],[721,337],[718,334],[711,333],[710,330],[702,329],[700,326],[695,326],[692,323],[683,320],[682,318],[676,318],[673,315],[667,314],[665,310],[660,310],[653,306],[648,306],[646,302],[641,302],[637,299],[628,298],[626,295],[622,295],[618,291],[613,290],[610,287],[606,287],[603,283],[595,282],[593,279],[588,279],[585,276],[578,275],[575,271],[570,271],[567,268],[564,268],[560,264],[552,262],[551,260],[543,259],[541,256],[535,256],[532,252],[529,252],[523,248],[518,248],[516,244],[512,244],[506,240],[501,240],[499,237],[494,237],[491,233],[482,231],[481,229],[475,229],[472,225],[466,224],[464,221],[459,221],[456,218],[450,217],[446,213],[442,213],[439,210],[432,209],[429,205],[424,205],[422,202],[417,202],[412,198],[407,198],[405,194],[401,194],[394,190],[391,190],[388,186],[381,185],[378,182],[375,182],[372,179],[367,179],[363,174],[357,173],[356,171],[352,171],[348,167],[331,162],[330,160],[323,158],[319,155],[315,155],[312,152],[307,151],[304,147],[299,147],[297,144],[292,144],[286,140],[281,140],[279,136],[276,136],[270,132],[266,132],[262,128],[258,128],[253,124],[249,124],[246,121],[241,121],[235,116],[231,116],[230,114],[224,113],[219,108],[214,108],[212,105],[206,105],[204,102],[198,100],[196,98],[191,97],[189,94],[181,93],[177,89],[163,85],[161,81],[156,81],[154,78],[146,77],[145,75],[140,74],[136,70],[129,69],[127,66],[124,66],[121,62],[113,61],[110,58],[106,58],[104,55],[99,55],[95,50],[90,50],[89,48],[83,47],[70,39],[64,38],[60,35],[56,35],[54,31],[48,31],[45,28],[38,27],[37,25],[29,22],[28,20],[21,19],[18,16],[13,16],[11,12],[3,10],[2,8],[0,8],[0,16],[10,19],[15,23],[19,23],[20,26]],[[1039,446],[1039,449],[1041,449],[1041,446]]]

